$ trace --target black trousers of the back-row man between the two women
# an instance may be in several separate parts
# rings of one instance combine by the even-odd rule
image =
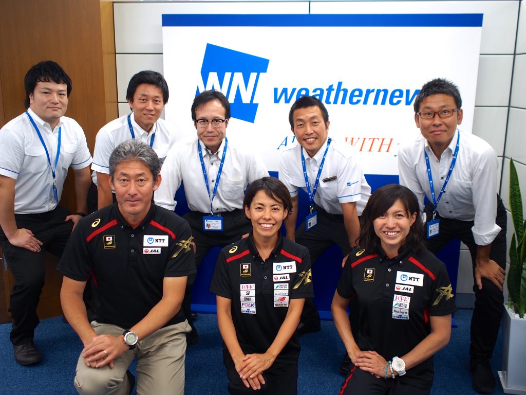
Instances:
[[[296,230],[296,243],[304,245],[309,250],[311,265],[314,265],[318,257],[330,246],[337,244],[343,256],[351,252],[349,238],[342,214],[329,214],[319,206],[315,206],[318,212],[318,224],[310,230],[305,229],[305,221]],[[340,264],[331,262],[330,264]],[[314,304],[314,299],[305,300],[301,313],[301,322],[307,325],[317,326],[320,315]]]

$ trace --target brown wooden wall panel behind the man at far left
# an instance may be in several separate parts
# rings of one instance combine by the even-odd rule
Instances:
[[[117,116],[113,43],[113,5],[108,0],[2,1],[0,126],[25,111],[24,75],[29,67],[43,60],[53,60],[72,78],[73,90],[66,116],[83,127],[93,153],[97,131]],[[61,204],[76,211],[71,174],[66,180]],[[46,263],[46,268],[53,269],[54,265]],[[62,276],[51,271],[52,278],[46,278],[49,288],[43,291],[51,302],[42,303],[43,306],[49,304],[46,311],[41,311],[43,316],[59,312],[56,296]],[[6,302],[0,292],[0,310]],[[2,317],[0,313],[0,320]]]

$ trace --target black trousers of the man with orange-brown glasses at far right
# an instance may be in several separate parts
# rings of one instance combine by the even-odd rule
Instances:
[[[432,206],[426,208],[427,218],[431,218]],[[497,196],[497,217],[495,222],[502,230],[491,243],[490,258],[497,262],[502,269],[506,270],[506,227],[507,214],[502,200]],[[440,214],[437,213],[437,218]],[[460,239],[469,248],[473,265],[473,280],[475,278],[475,258],[477,256],[477,245],[473,240],[471,228],[473,221],[450,220],[440,218],[440,234],[434,238],[426,239],[426,245],[433,254],[439,252],[447,243],[453,239]],[[504,297],[490,280],[482,279],[482,289],[477,284],[473,285],[475,293],[475,308],[471,319],[471,345],[470,355],[475,359],[490,359],[497,342],[500,321],[502,318]]]

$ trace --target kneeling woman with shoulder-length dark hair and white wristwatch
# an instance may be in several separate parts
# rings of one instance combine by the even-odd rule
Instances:
[[[432,357],[449,342],[457,310],[446,266],[422,243],[417,197],[407,187],[378,189],[360,223],[360,247],[349,255],[331,306],[352,361],[340,394],[429,394]],[[359,310],[351,312],[359,317],[354,332],[351,298]]]

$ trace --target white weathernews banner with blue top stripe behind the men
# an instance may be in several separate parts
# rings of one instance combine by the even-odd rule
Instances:
[[[166,119],[179,138],[196,133],[190,106],[205,89],[231,104],[229,142],[277,171],[296,144],[290,106],[318,97],[329,136],[358,152],[364,172],[398,175],[398,146],[412,138],[413,102],[436,77],[462,95],[471,132],[482,14],[163,15],[163,58],[170,87]]]

